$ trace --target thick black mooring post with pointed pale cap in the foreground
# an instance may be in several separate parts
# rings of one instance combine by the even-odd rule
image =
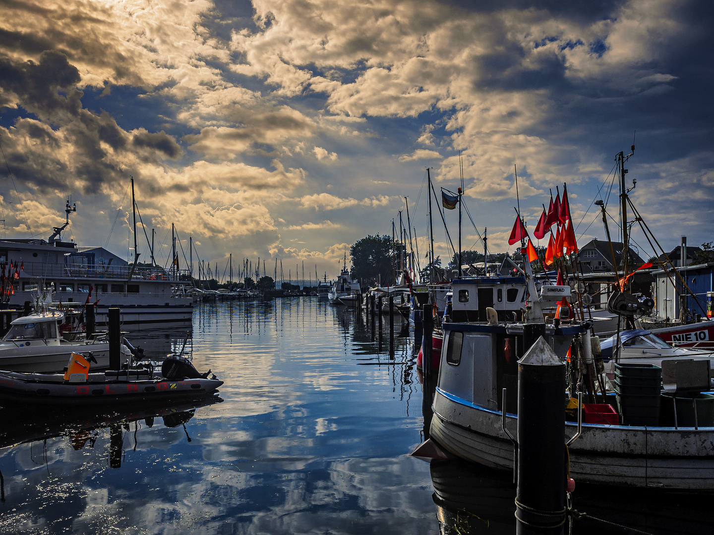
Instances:
[[[524,345],[532,334],[523,332]],[[565,364],[541,336],[518,361],[516,534],[519,535],[563,533],[564,392]]]

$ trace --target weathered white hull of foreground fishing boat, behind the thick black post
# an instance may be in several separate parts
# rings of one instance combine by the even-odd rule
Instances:
[[[430,434],[447,452],[488,467],[513,470],[513,443],[502,429],[500,411],[456,401],[436,390]],[[565,424],[565,442],[577,432]],[[506,414],[516,436],[518,420]],[[576,482],[653,487],[714,489],[714,427],[633,427],[583,424],[568,448],[570,477]]]

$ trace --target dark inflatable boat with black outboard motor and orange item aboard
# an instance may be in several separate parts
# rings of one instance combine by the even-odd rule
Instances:
[[[211,370],[199,373],[185,357],[170,355],[155,372],[151,364],[89,373],[91,354],[73,354],[56,374],[0,372],[0,407],[94,407],[98,404],[201,399],[223,384]],[[210,376],[210,377],[209,377]]]

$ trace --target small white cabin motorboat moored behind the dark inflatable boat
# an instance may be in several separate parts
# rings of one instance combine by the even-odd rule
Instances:
[[[40,312],[22,316],[11,322],[10,330],[0,340],[0,370],[14,372],[61,372],[70,355],[91,352],[96,369],[109,367],[109,342],[96,340],[66,340],[61,335],[64,312]],[[131,360],[131,352],[121,345],[121,360]]]

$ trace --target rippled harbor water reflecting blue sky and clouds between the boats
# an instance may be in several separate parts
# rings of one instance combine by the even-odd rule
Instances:
[[[300,297],[129,333],[156,360],[183,350],[210,368],[218,397],[0,411],[0,533],[515,533],[511,474],[408,457],[425,420],[413,332],[390,347],[381,320],[380,337],[363,312]],[[589,517],[565,532],[710,533],[709,499],[584,488],[572,505]]]

